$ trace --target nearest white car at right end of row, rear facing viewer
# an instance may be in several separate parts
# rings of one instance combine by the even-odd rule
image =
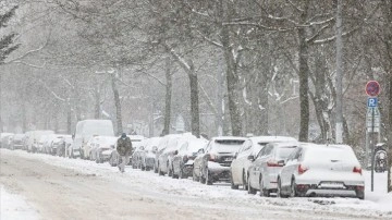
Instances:
[[[278,176],[278,196],[365,198],[360,164],[347,145],[302,144]]]

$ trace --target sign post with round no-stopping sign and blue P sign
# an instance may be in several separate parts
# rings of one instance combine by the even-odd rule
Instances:
[[[371,192],[375,188],[375,133],[380,133],[380,111],[378,109],[378,98],[377,96],[380,94],[380,84],[377,81],[369,81],[366,84],[366,94],[369,96],[367,100],[367,113],[366,113],[366,136],[370,133],[370,150],[371,150]],[[366,142],[366,145],[368,142]],[[369,150],[368,146],[366,147],[366,157],[367,162],[369,161]]]

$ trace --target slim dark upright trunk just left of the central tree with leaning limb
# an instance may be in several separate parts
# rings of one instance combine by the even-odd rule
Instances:
[[[167,58],[166,61],[166,98],[164,98],[164,125],[162,136],[170,133],[170,118],[171,118],[171,97],[172,97],[172,77],[171,77],[171,61]]]

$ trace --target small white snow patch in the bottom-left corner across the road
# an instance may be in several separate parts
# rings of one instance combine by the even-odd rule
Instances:
[[[38,213],[20,195],[10,194],[0,186],[0,219],[1,220],[35,220]]]

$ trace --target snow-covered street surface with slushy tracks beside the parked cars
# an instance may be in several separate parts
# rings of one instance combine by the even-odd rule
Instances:
[[[376,173],[376,191],[365,200],[283,199],[22,150],[0,149],[0,185],[33,207],[38,217],[29,219],[392,219],[385,173]],[[1,196],[0,219],[10,219],[10,209],[17,215]]]

